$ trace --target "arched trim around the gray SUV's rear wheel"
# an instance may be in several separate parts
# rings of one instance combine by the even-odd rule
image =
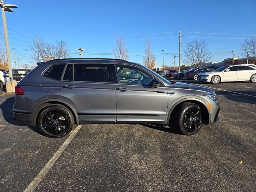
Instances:
[[[32,112],[32,116],[31,116],[31,123],[32,125],[36,125],[37,124],[37,118],[38,118],[38,114],[39,112],[47,107],[50,106],[52,104],[60,104],[65,106],[66,108],[68,108],[70,110],[70,112],[72,112],[73,116],[74,116],[74,120],[75,120],[75,124],[79,125],[79,118],[78,118],[78,114],[76,112],[76,110],[74,109],[74,107],[72,105],[70,105],[68,102],[65,102],[63,100],[60,99],[47,99],[47,100],[43,100],[41,102],[39,102],[36,107],[34,108],[33,112]]]

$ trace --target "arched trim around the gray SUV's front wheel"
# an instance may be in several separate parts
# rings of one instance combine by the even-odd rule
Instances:
[[[172,108],[170,109],[170,111],[168,113],[167,124],[170,123],[170,120],[171,120],[171,118],[173,116],[173,113],[176,110],[176,108],[180,104],[185,103],[185,102],[197,104],[200,107],[200,109],[202,110],[203,124],[206,124],[206,125],[209,124],[210,118],[211,118],[210,117],[210,110],[208,109],[207,105],[202,100],[199,100],[199,99],[196,99],[196,98],[187,98],[187,99],[182,99],[182,100],[176,102],[172,106]]]

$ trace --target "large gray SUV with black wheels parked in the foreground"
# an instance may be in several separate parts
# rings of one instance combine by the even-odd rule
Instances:
[[[137,77],[130,76],[136,71]],[[167,124],[193,135],[218,121],[213,90],[168,81],[119,59],[56,59],[38,63],[15,88],[13,116],[58,138],[78,124]]]

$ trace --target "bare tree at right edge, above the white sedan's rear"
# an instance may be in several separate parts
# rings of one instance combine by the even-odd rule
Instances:
[[[256,37],[244,40],[241,45],[242,56],[256,57]],[[250,61],[251,63],[252,61]]]

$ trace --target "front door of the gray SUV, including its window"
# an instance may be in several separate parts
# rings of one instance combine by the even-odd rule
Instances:
[[[132,76],[133,71],[136,71],[138,76]],[[168,94],[163,84],[153,88],[150,85],[153,76],[137,66],[115,64],[113,74],[117,122],[165,122]]]

